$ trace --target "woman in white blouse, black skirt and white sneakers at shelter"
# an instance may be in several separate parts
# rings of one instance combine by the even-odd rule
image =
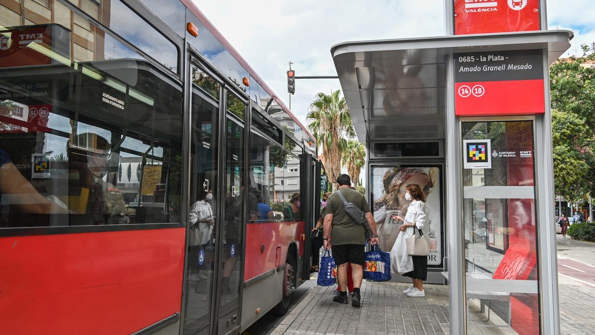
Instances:
[[[403,225],[399,228],[400,231],[406,229],[419,229],[424,232],[430,221],[430,212],[428,206],[425,204],[426,195],[421,190],[418,184],[408,184],[406,187],[407,193],[405,198],[411,201],[407,209],[405,218],[395,215],[394,219],[403,221]],[[417,234],[417,231],[415,231]],[[424,232],[425,234],[425,232]],[[411,277],[413,286],[409,287],[403,293],[410,297],[424,297],[424,281],[428,277],[428,257],[427,256],[411,256],[413,259],[413,271],[403,274],[405,277]]]

